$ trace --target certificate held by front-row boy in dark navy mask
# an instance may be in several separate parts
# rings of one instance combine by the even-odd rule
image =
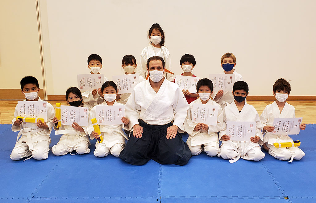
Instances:
[[[250,141],[256,136],[256,122],[252,121],[227,121],[226,134],[230,140]]]

